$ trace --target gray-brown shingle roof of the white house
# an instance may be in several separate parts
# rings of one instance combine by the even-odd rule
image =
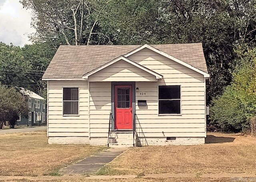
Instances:
[[[82,78],[85,73],[140,46],[60,45],[46,69],[43,79]],[[201,43],[151,46],[208,73]]]

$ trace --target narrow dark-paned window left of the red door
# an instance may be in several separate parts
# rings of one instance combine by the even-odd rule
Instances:
[[[78,88],[63,88],[63,115],[78,115]]]

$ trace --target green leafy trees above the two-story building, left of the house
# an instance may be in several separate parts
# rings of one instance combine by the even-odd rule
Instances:
[[[55,51],[46,42],[22,48],[0,43],[0,83],[24,87],[45,97],[47,85],[42,75]]]

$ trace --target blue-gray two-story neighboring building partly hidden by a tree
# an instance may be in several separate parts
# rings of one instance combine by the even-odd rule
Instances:
[[[30,112],[28,118],[20,115],[16,125],[32,126],[46,123],[46,99],[24,88],[21,88],[20,93],[26,96]]]

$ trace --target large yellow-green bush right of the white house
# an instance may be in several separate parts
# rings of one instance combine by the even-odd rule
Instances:
[[[256,48],[238,49],[237,69],[230,86],[212,100],[210,123],[234,129],[250,127],[256,116]]]

